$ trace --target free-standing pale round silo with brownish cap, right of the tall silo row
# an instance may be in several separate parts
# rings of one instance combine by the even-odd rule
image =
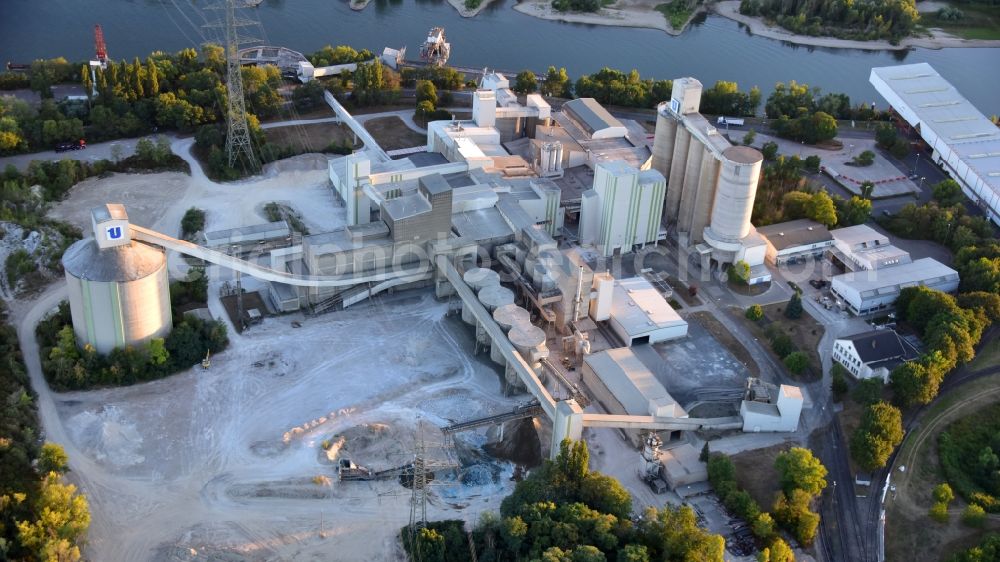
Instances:
[[[719,186],[712,203],[712,235],[736,241],[750,233],[750,215],[764,155],[749,146],[731,146],[722,152]]]

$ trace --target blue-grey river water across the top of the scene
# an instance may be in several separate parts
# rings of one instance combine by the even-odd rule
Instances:
[[[93,56],[100,23],[113,58],[174,51],[218,37],[204,27],[220,12],[210,0],[0,0],[0,61]],[[345,0],[264,0],[246,15],[260,25],[247,35],[310,52],[346,44],[380,52],[406,45],[415,58],[426,31],[446,29],[451,61],[461,66],[544,70],[565,66],[571,77],[610,66],[655,78],[695,76],[706,84],[734,80],[759,86],[796,80],[853,102],[885,102],[868,84],[873,66],[928,62],[987,115],[1000,113],[1000,49],[914,49],[904,52],[822,49],[752,36],[736,22],[709,16],[680,37],[658,30],[550,22],[501,0],[466,19],[444,0],[374,0],[354,12]],[[650,14],[650,17],[660,17]]]

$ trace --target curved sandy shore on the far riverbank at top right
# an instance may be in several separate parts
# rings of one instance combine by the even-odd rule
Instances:
[[[739,0],[716,2],[712,5],[712,10],[724,18],[747,26],[753,35],[777,39],[779,41],[788,41],[796,45],[810,45],[830,49],[861,49],[866,51],[901,51],[913,47],[923,49],[1000,47],[1000,41],[962,39],[961,37],[944,33],[939,29],[930,29],[931,37],[908,37],[900,41],[898,45],[892,45],[888,41],[854,41],[851,39],[837,39],[835,37],[813,37],[811,35],[798,35],[777,26],[767,25],[761,18],[745,16],[740,13]]]

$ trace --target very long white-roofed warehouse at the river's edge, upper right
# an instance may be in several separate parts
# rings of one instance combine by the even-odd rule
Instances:
[[[925,62],[873,68],[868,81],[920,133],[965,195],[1000,224],[1000,128]]]

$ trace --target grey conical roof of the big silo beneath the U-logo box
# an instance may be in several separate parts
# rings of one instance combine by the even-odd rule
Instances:
[[[74,243],[63,254],[63,267],[77,279],[103,283],[135,281],[147,277],[166,263],[163,252],[132,242],[100,250],[93,238]]]

